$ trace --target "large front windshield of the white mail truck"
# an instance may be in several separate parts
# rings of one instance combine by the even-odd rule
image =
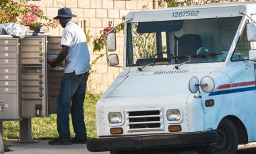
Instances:
[[[127,66],[224,62],[241,19],[127,23]]]

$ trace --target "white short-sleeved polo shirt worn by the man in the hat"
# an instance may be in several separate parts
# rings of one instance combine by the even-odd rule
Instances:
[[[69,21],[63,29],[61,45],[69,46],[64,70],[65,73],[75,71],[75,74],[79,75],[91,69],[86,34],[82,27],[77,25],[74,21]]]

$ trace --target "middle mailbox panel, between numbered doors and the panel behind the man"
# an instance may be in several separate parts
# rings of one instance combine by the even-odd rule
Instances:
[[[20,40],[22,64],[22,117],[46,117],[47,37]]]

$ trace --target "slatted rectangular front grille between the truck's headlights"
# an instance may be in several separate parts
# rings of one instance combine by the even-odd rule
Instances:
[[[128,131],[162,131],[162,110],[129,110]]]

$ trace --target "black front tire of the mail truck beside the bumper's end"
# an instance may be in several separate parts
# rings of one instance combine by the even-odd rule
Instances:
[[[218,143],[216,145],[205,145],[199,150],[200,154],[235,154],[238,146],[237,129],[228,119],[223,119],[217,129]]]

